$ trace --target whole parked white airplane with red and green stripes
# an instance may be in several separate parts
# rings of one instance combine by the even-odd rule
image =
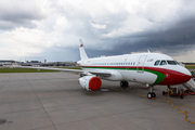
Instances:
[[[153,88],[173,86],[187,82],[192,75],[171,56],[160,53],[138,53],[116,56],[101,56],[89,58],[82,40],[80,39],[80,61],[77,63],[81,70],[30,67],[37,69],[53,69],[80,74],[79,83],[88,91],[96,91],[102,80],[120,81],[120,87],[127,89],[130,82],[139,82],[150,88],[148,99],[156,98]],[[28,67],[29,68],[29,67]]]

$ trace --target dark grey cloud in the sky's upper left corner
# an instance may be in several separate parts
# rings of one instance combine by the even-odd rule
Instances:
[[[40,21],[44,17],[38,0],[2,0],[0,2],[0,29],[35,28],[32,21]]]

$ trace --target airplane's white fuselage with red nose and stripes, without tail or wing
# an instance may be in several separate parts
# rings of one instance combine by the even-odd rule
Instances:
[[[166,65],[154,65],[156,61],[166,61]],[[190,76],[190,72],[179,64],[168,64],[172,57],[159,53],[125,54],[81,60],[78,63],[83,70],[109,72],[112,76],[100,77],[106,80],[135,81],[146,84],[166,84],[174,75]],[[177,77],[178,78],[178,77]],[[176,84],[180,81],[171,81]]]

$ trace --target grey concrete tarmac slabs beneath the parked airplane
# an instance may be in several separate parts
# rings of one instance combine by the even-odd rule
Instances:
[[[103,81],[109,91],[86,91],[68,73],[0,74],[0,130],[194,130],[185,115],[167,103],[166,87]],[[195,121],[195,95],[170,96]]]

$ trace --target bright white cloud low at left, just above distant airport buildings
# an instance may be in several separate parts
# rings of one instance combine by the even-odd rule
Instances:
[[[38,56],[43,49],[52,47],[54,40],[53,34],[23,27],[3,32],[0,35],[0,58]]]

